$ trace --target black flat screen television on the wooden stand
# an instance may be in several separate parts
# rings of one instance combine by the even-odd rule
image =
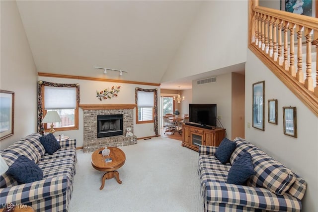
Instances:
[[[216,127],[217,104],[189,104],[189,121]]]

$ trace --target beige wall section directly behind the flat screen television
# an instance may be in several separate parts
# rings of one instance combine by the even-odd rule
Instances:
[[[197,85],[196,80],[192,81],[192,103],[217,104],[217,115],[221,116],[220,121],[226,128],[227,137],[231,139],[232,73],[217,76],[215,83]]]

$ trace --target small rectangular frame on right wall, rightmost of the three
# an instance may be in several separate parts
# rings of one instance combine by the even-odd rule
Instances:
[[[297,138],[297,110],[295,106],[283,107],[284,134]]]

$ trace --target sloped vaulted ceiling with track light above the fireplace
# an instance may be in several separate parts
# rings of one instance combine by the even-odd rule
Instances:
[[[201,1],[17,1],[38,72],[161,83]]]

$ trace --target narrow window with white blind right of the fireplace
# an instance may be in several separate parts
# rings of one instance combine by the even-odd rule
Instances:
[[[154,92],[137,92],[137,124],[154,122],[154,105]]]

